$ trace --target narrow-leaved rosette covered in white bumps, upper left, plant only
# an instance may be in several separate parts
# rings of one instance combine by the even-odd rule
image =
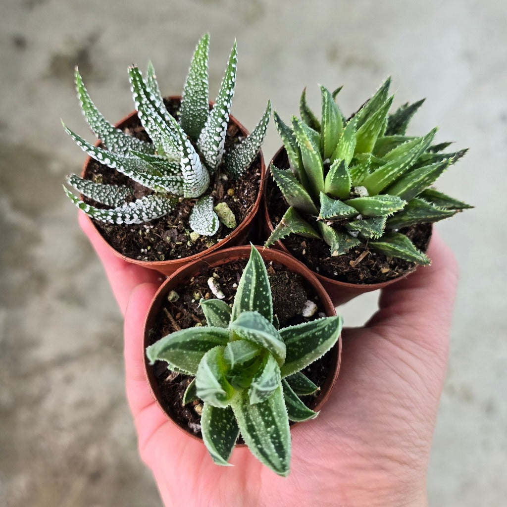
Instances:
[[[102,147],[90,144],[64,125],[78,146],[99,163],[111,167],[150,189],[152,193],[135,200],[125,187],[105,185],[71,175],[67,184],[106,209],[87,204],[65,187],[68,197],[91,218],[112,224],[139,224],[170,213],[177,197],[196,199],[189,226],[198,234],[212,236],[220,216],[212,197],[205,195],[219,169],[234,178],[242,176],[259,153],[271,114],[266,111],[252,133],[229,150],[225,139],[236,82],[236,43],[231,51],[224,79],[209,108],[209,35],[200,40],[185,83],[179,118],[164,105],[151,62],[146,78],[137,66],[129,68],[129,79],[137,115],[152,142],[144,142],[107,122],[92,102],[76,69],[76,88],[83,114]],[[219,203],[220,204],[220,203]],[[229,220],[226,226],[235,224]]]

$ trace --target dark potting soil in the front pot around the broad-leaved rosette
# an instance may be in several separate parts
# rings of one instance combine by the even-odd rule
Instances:
[[[156,327],[150,331],[150,344],[179,329],[191,328],[198,323],[206,325],[206,319],[199,306],[199,300],[215,297],[208,286],[210,276],[215,278],[216,283],[224,293],[225,298],[223,301],[232,304],[246,262],[245,259],[224,266],[203,269],[199,275],[191,278],[188,284],[176,287],[174,292],[177,294],[178,299],[167,301],[163,306]],[[287,271],[283,266],[276,263],[268,264],[267,268],[273,297],[273,313],[278,316],[280,328],[308,322],[323,316],[322,303],[311,285],[307,284],[298,274]],[[174,297],[174,295],[172,296]],[[317,311],[309,318],[301,315],[307,300],[311,300],[317,305]],[[332,373],[330,371],[332,367],[331,357],[330,353],[324,354],[304,369],[303,373],[316,385],[323,385],[324,380]],[[164,361],[156,361],[152,368],[166,412],[170,413],[180,426],[190,429],[196,436],[201,437],[200,413],[202,402],[195,401],[186,406],[182,404],[185,390],[193,377],[168,370],[167,363],[164,363]],[[312,395],[301,396],[301,400],[308,407],[315,407],[318,393],[319,391]],[[240,438],[238,443],[242,442]]]

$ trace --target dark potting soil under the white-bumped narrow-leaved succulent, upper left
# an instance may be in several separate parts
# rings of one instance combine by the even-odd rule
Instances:
[[[179,116],[179,100],[165,100],[165,104],[169,113],[177,118]],[[151,142],[137,116],[133,116],[123,130],[134,137]],[[238,127],[229,123],[226,149],[240,140],[241,131]],[[128,185],[135,192],[132,200],[150,195],[153,192],[133,182],[115,169],[100,164],[93,159],[88,164],[85,177],[101,183]],[[238,179],[233,179],[226,173],[221,172],[219,167],[215,175],[212,176],[209,189],[205,195],[212,195],[215,203],[219,201],[226,202],[234,213],[236,224],[239,225],[246,218],[256,201],[260,178],[261,158],[258,155],[246,173]],[[84,201],[96,207],[104,207],[92,199],[84,198]],[[196,201],[197,199],[180,198],[171,213],[144,224],[117,225],[97,220],[93,222],[104,239],[126,257],[142,261],[182,259],[209,248],[232,232],[232,229],[220,223],[218,231],[213,236],[199,236],[196,241],[191,241],[190,232],[192,231],[189,227],[189,216]]]

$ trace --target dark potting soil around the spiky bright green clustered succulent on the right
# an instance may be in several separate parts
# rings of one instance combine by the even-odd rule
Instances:
[[[274,164],[279,168],[288,168],[284,151],[275,158]],[[272,225],[276,227],[289,206],[271,177],[266,181],[266,202]],[[405,234],[419,250],[425,252],[431,237],[431,224],[406,227],[398,232]],[[414,271],[417,267],[414,262],[370,250],[368,243],[361,243],[337,257],[331,257],[329,245],[320,239],[291,234],[282,243],[312,271],[348,283],[380,283]]]

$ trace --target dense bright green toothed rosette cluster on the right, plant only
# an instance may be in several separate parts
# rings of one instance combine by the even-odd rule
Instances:
[[[288,169],[271,165],[271,175],[289,208],[266,246],[289,234],[320,238],[332,256],[367,243],[386,256],[429,264],[399,229],[428,224],[470,208],[431,185],[466,150],[444,153],[450,143],[433,144],[437,131],[407,136],[408,124],[424,100],[389,114],[390,78],[357,113],[345,119],[335,98],[321,86],[319,121],[303,91],[301,119],[275,123],[287,152]]]

